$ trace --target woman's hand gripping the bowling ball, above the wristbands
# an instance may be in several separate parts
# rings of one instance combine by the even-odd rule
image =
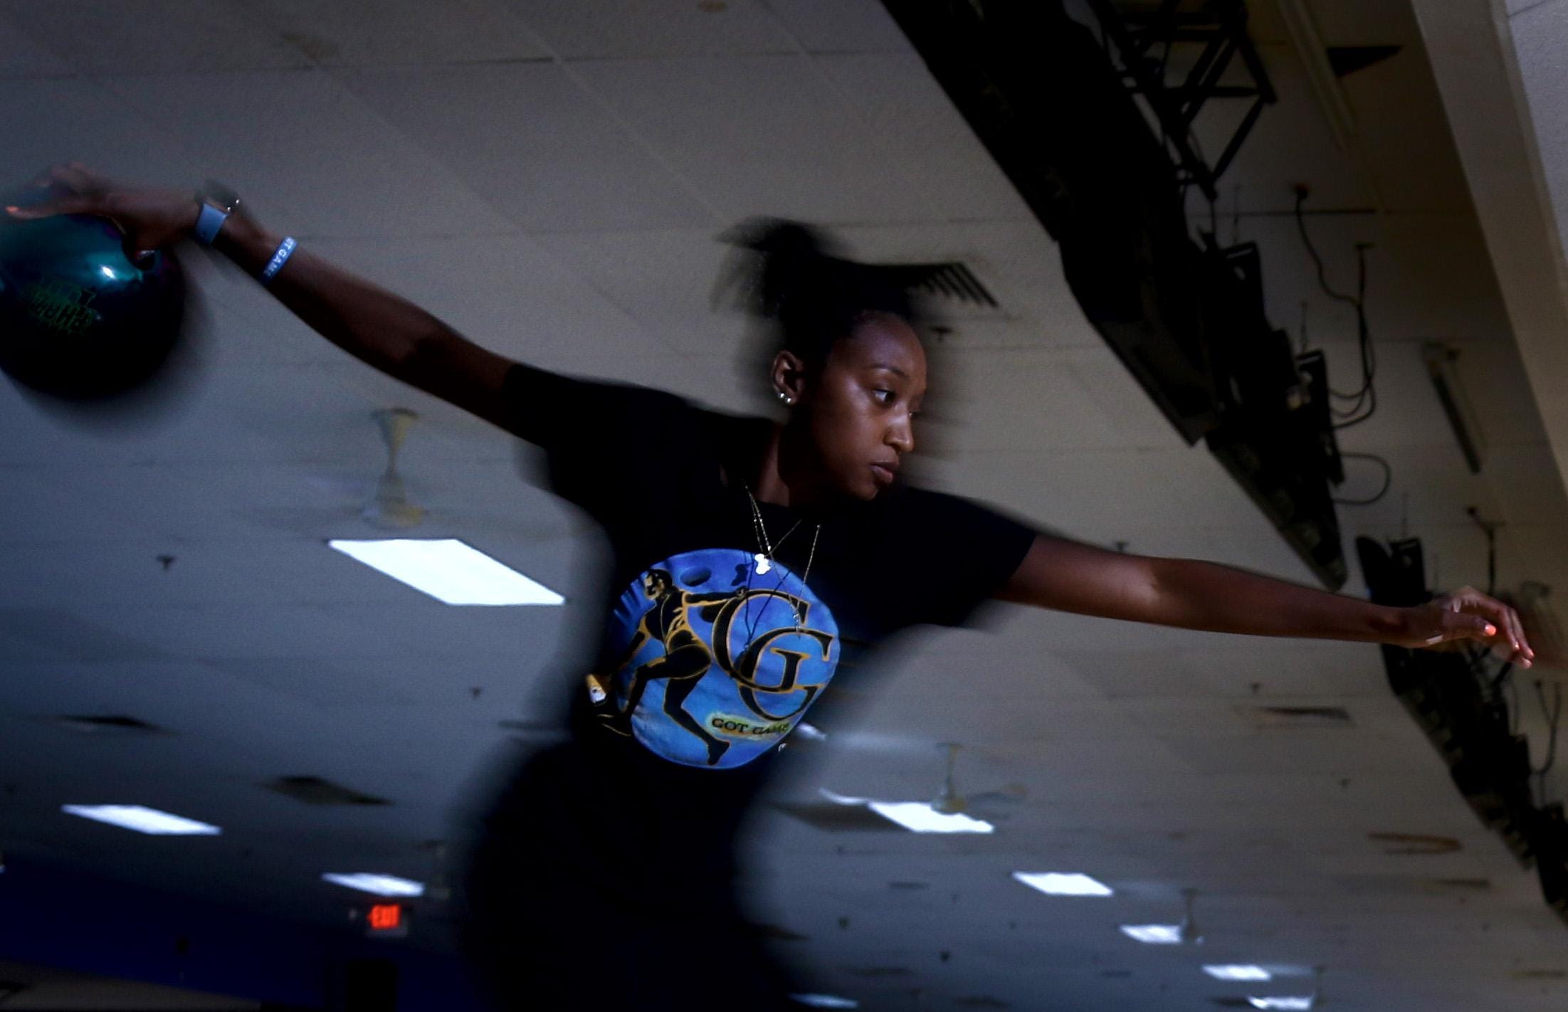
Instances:
[[[125,234],[125,249],[162,249],[190,237],[201,206],[190,190],[154,190],[129,187],[100,176],[80,162],[56,165],[33,180],[34,187],[52,187],[55,196],[28,207],[8,206],[13,218],[31,220],[50,215],[100,215]]]

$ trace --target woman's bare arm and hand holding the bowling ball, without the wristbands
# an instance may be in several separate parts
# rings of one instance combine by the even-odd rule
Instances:
[[[102,215],[125,232],[132,253],[187,238],[201,210],[190,191],[127,187],[77,163],[55,166],[38,182],[66,195],[25,210],[8,209],[9,213]],[[213,248],[259,276],[279,242],[281,235],[237,213],[224,221]],[[464,339],[414,303],[303,248],[268,290],[306,325],[361,361],[486,420],[506,424],[502,381],[514,362]]]

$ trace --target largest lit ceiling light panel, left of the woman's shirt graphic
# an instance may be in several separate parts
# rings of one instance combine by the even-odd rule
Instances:
[[[328,541],[445,604],[563,604],[566,598],[456,538]]]

